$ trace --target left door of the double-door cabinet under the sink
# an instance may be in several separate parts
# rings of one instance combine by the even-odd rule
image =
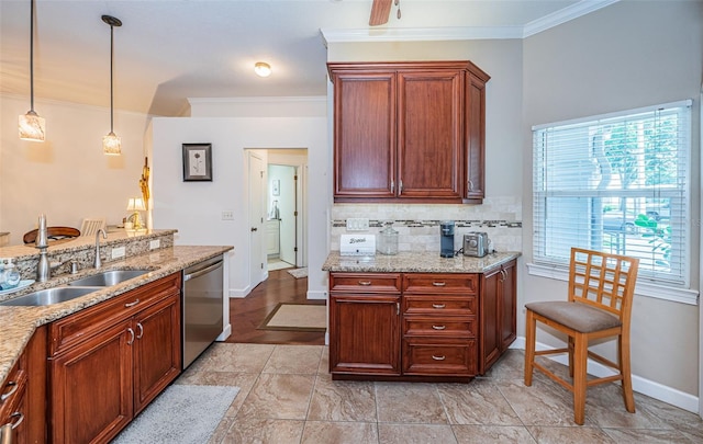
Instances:
[[[51,358],[52,442],[108,442],[133,417],[131,321]]]

